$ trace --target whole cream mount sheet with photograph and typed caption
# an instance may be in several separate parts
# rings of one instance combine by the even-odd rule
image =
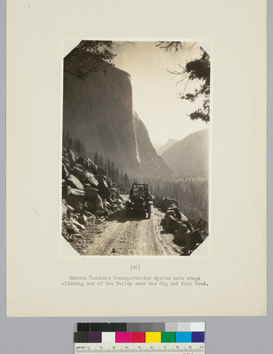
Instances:
[[[267,314],[266,3],[142,2],[8,1],[6,316]]]

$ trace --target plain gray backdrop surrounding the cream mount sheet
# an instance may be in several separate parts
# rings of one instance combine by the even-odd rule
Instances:
[[[240,0],[238,0],[240,1]],[[256,0],[258,2],[258,0]],[[74,353],[74,324],[84,321],[206,321],[206,353],[273,353],[272,316],[272,197],[273,188],[273,0],[267,1],[267,256],[268,304],[267,316],[260,317],[66,317],[66,318],[6,318],[6,242],[5,242],[5,105],[6,105],[6,8],[0,0],[0,353]],[[232,20],[231,20],[232,21]],[[258,65],[257,65],[258,67]],[[259,252],[259,249],[257,249]],[[245,299],[247,301],[247,298]],[[204,304],[206,306],[206,304]]]

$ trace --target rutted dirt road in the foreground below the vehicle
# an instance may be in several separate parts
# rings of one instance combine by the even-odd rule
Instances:
[[[157,208],[152,209],[150,219],[138,215],[126,218],[121,211],[116,220],[104,222],[99,232],[89,235],[81,253],[85,256],[179,256],[181,248],[173,243],[174,236],[160,226],[163,216]]]

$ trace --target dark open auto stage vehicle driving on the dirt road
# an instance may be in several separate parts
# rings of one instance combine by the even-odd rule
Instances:
[[[133,183],[130,189],[129,200],[126,201],[125,215],[128,217],[129,212],[147,213],[148,219],[152,212],[152,196],[149,193],[147,184]]]

